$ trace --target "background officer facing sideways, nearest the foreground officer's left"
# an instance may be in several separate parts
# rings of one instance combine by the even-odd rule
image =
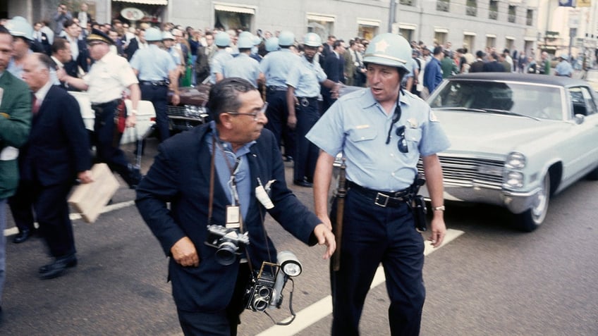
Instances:
[[[315,144],[307,141],[305,135],[319,119],[318,96],[320,84],[331,89],[331,97],[338,97],[340,85],[327,79],[319,63],[314,61],[322,39],[314,32],[308,32],[303,39],[305,54],[300,57],[298,66],[291,69],[286,85],[288,125],[295,127],[295,171],[293,183],[311,187],[318,156]]]

